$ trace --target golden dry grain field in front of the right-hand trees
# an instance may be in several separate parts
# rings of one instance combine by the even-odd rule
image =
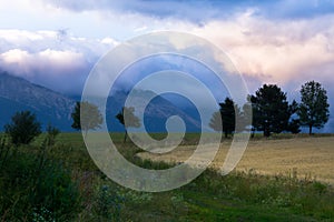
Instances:
[[[213,168],[219,168],[229,142],[223,142]],[[194,152],[195,147],[180,147],[166,154],[139,153],[144,159],[166,162],[183,162]],[[295,175],[299,179],[316,179],[334,184],[334,137],[294,138],[279,140],[249,141],[237,171],[262,174]]]

